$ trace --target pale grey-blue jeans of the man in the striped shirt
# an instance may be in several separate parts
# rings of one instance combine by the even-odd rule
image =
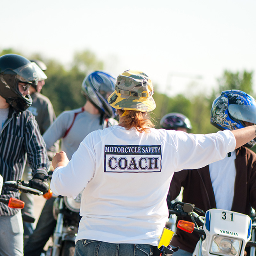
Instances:
[[[0,216],[0,255],[23,256],[21,211],[13,216]]]

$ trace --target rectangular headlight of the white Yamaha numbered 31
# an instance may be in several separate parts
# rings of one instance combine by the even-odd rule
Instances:
[[[210,253],[223,256],[237,256],[242,244],[241,239],[226,236],[212,236]]]

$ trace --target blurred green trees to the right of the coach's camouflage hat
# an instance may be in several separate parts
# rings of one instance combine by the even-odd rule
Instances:
[[[212,108],[212,102],[216,99],[222,91],[237,89],[249,93],[253,96],[252,85],[253,72],[232,73],[225,70],[223,74],[216,79],[218,88],[212,90],[210,96],[200,93],[198,95],[192,95],[189,99],[184,95],[176,95],[169,98],[165,94],[159,94],[155,92],[154,99],[156,101],[156,109],[153,111],[155,114],[155,120],[158,122],[156,128],[159,127],[161,117],[167,113],[178,112],[187,116],[192,124],[193,133],[211,133],[217,132],[218,129],[210,124],[210,112]]]

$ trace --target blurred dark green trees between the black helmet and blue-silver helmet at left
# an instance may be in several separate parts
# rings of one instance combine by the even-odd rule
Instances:
[[[57,116],[64,110],[84,106],[86,100],[81,95],[81,85],[85,76],[93,70],[103,69],[103,62],[89,50],[76,52],[69,70],[56,60],[45,60],[45,64],[48,78],[42,93],[52,101]]]

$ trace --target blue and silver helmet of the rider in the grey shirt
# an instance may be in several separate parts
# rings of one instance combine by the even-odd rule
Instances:
[[[115,84],[116,78],[103,71],[90,73],[82,83],[82,95],[91,101],[105,118],[114,116],[114,109],[108,104],[107,99],[114,92]]]

